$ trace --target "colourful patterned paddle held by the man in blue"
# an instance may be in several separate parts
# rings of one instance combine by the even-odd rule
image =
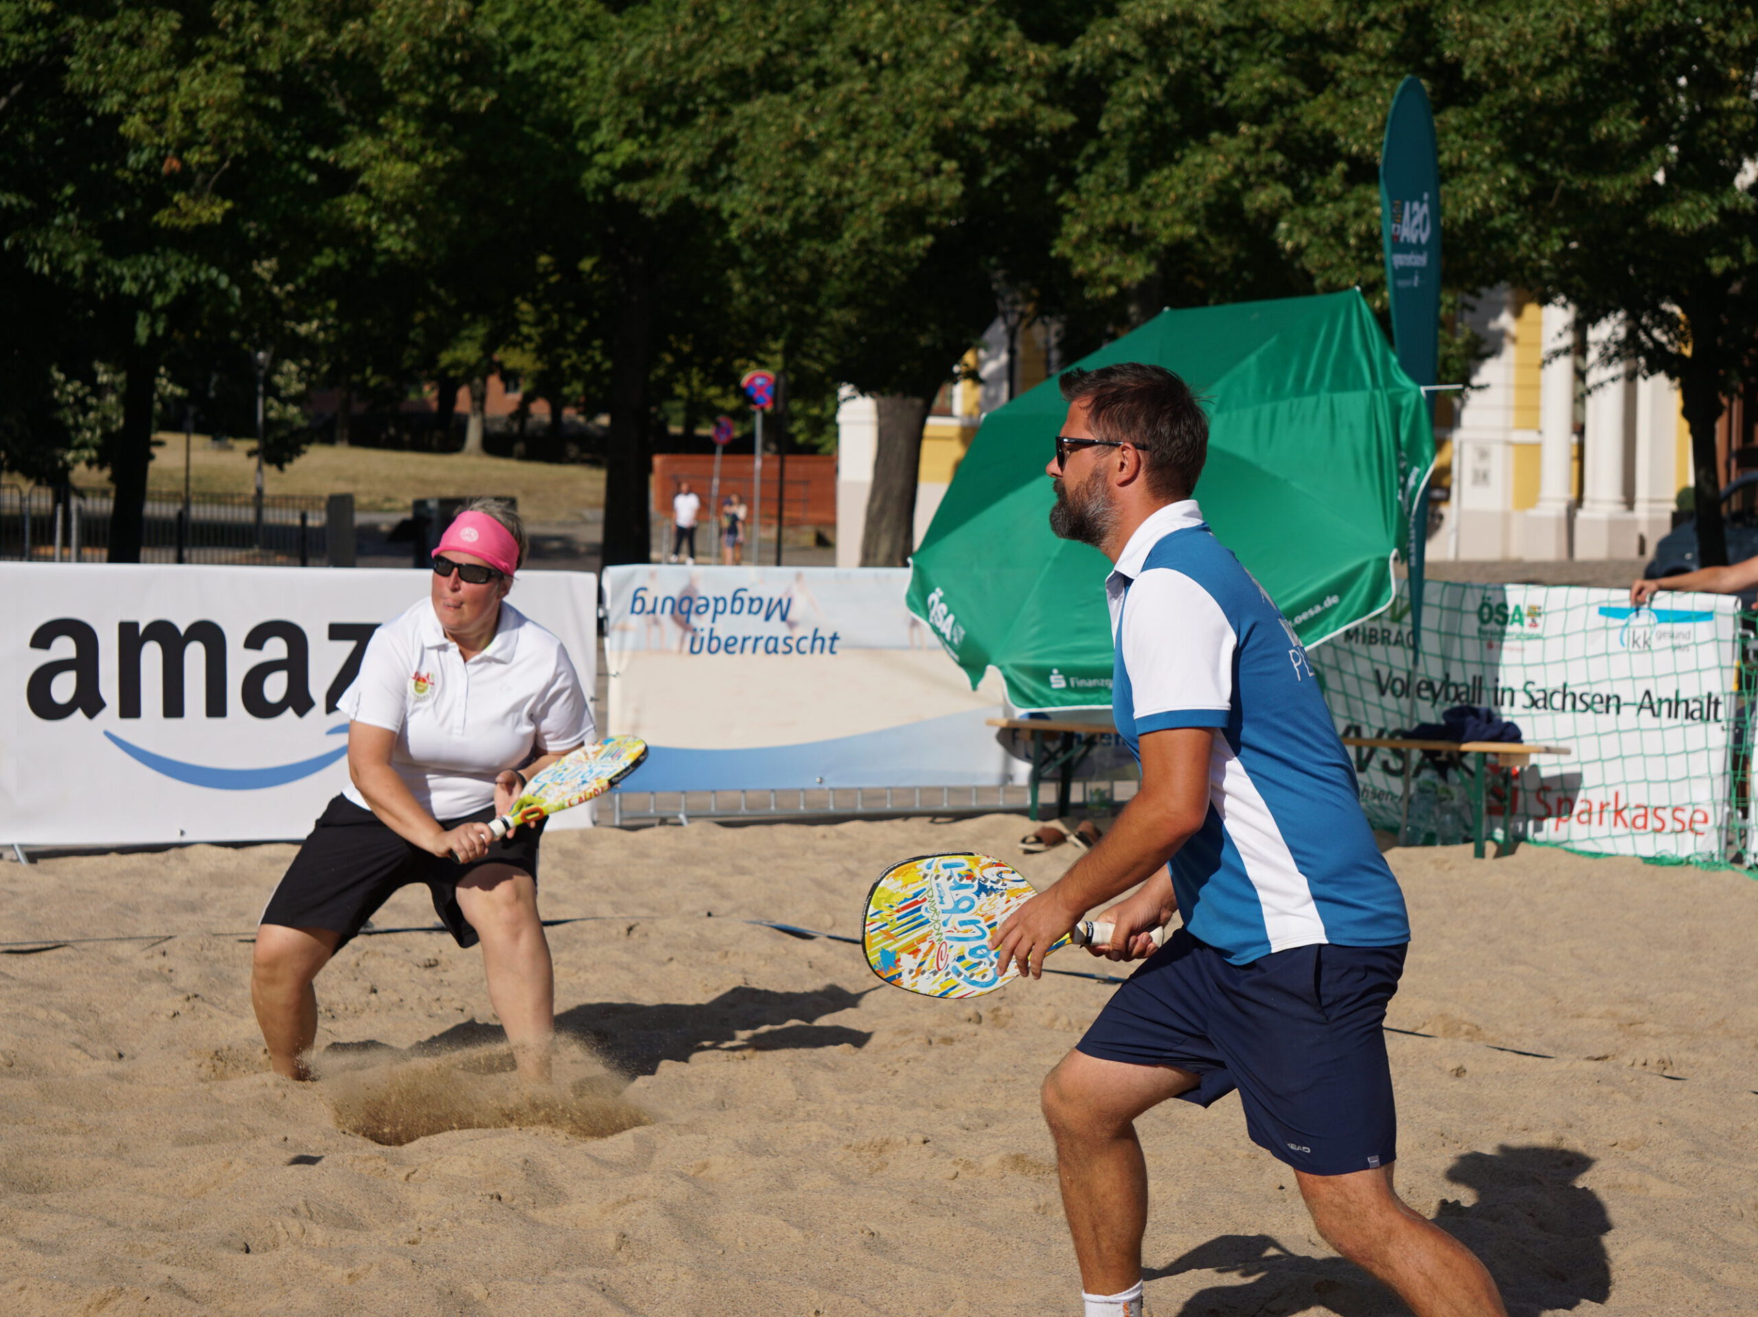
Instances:
[[[1000,969],[988,939],[1035,895],[1011,865],[986,855],[918,855],[886,869],[867,893],[861,950],[895,988],[981,997],[1020,978],[1016,964]],[[1155,946],[1164,937],[1164,928],[1153,930]],[[1050,950],[1109,941],[1109,923],[1083,920]]]

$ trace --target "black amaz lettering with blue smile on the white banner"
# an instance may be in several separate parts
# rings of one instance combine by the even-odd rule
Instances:
[[[378,622],[329,622],[327,638],[346,645],[346,652],[323,688],[325,714],[338,710],[343,693],[360,672],[366,642],[373,638],[376,629]],[[49,658],[32,670],[25,684],[25,703],[32,716],[44,723],[60,723],[76,714],[97,719],[114,702],[114,716],[121,723],[144,719],[148,691],[142,668],[149,651],[156,656],[158,666],[158,716],[169,723],[190,716],[192,695],[200,705],[202,717],[207,719],[230,717],[234,696],[246,717],[264,721],[288,712],[294,717],[304,717],[316,709],[316,700],[311,695],[311,640],[297,622],[274,619],[250,628],[243,649],[262,656],[262,661],[244,668],[236,688],[230,680],[234,668],[229,652],[230,642],[218,622],[197,621],[186,628],[178,628],[176,622],[165,619],[144,626],[137,621],[118,622],[113,645],[114,677],[113,686],[105,691],[104,638],[98,637],[91,622],[79,617],[56,617],[39,626],[30,637],[30,647],[46,651]],[[200,658],[200,684],[193,691],[188,680],[195,658],[192,651],[197,651]],[[274,651],[280,651],[278,656]],[[411,684],[418,682],[420,677],[417,673]],[[346,731],[348,724],[341,723],[323,735],[336,737]],[[160,754],[109,728],[104,728],[104,737],[123,754],[156,774],[218,791],[257,791],[297,782],[348,753],[346,746],[338,746],[294,763],[227,768]]]

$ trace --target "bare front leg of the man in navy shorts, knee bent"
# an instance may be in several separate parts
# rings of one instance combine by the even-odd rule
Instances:
[[[1071,1051],[1044,1080],[1062,1211],[1074,1236],[1081,1287],[1090,1294],[1120,1294],[1141,1280],[1148,1166],[1136,1117],[1195,1087],[1190,1071],[1125,1066],[1085,1051]]]

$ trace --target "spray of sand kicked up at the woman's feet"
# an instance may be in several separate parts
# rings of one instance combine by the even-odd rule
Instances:
[[[599,1139],[652,1122],[622,1097],[628,1080],[571,1039],[556,1039],[548,1083],[520,1078],[505,1043],[429,1057],[387,1048],[318,1059],[316,1080],[338,1129],[392,1146],[452,1129],[529,1125]]]

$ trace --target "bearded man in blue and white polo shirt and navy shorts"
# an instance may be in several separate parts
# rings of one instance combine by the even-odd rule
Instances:
[[[1051,529],[1102,550],[1116,728],[1141,789],[997,932],[1039,974],[1086,911],[1113,960],[1150,955],[1044,1080],[1086,1317],[1139,1317],[1148,1173],[1134,1120],[1234,1088],[1320,1234],[1417,1317],[1501,1317],[1484,1266],[1392,1190],[1385,1004],[1410,941],[1306,651],[1190,492],[1208,418],[1171,371],[1062,378]],[[1150,932],[1183,927],[1153,951]]]

